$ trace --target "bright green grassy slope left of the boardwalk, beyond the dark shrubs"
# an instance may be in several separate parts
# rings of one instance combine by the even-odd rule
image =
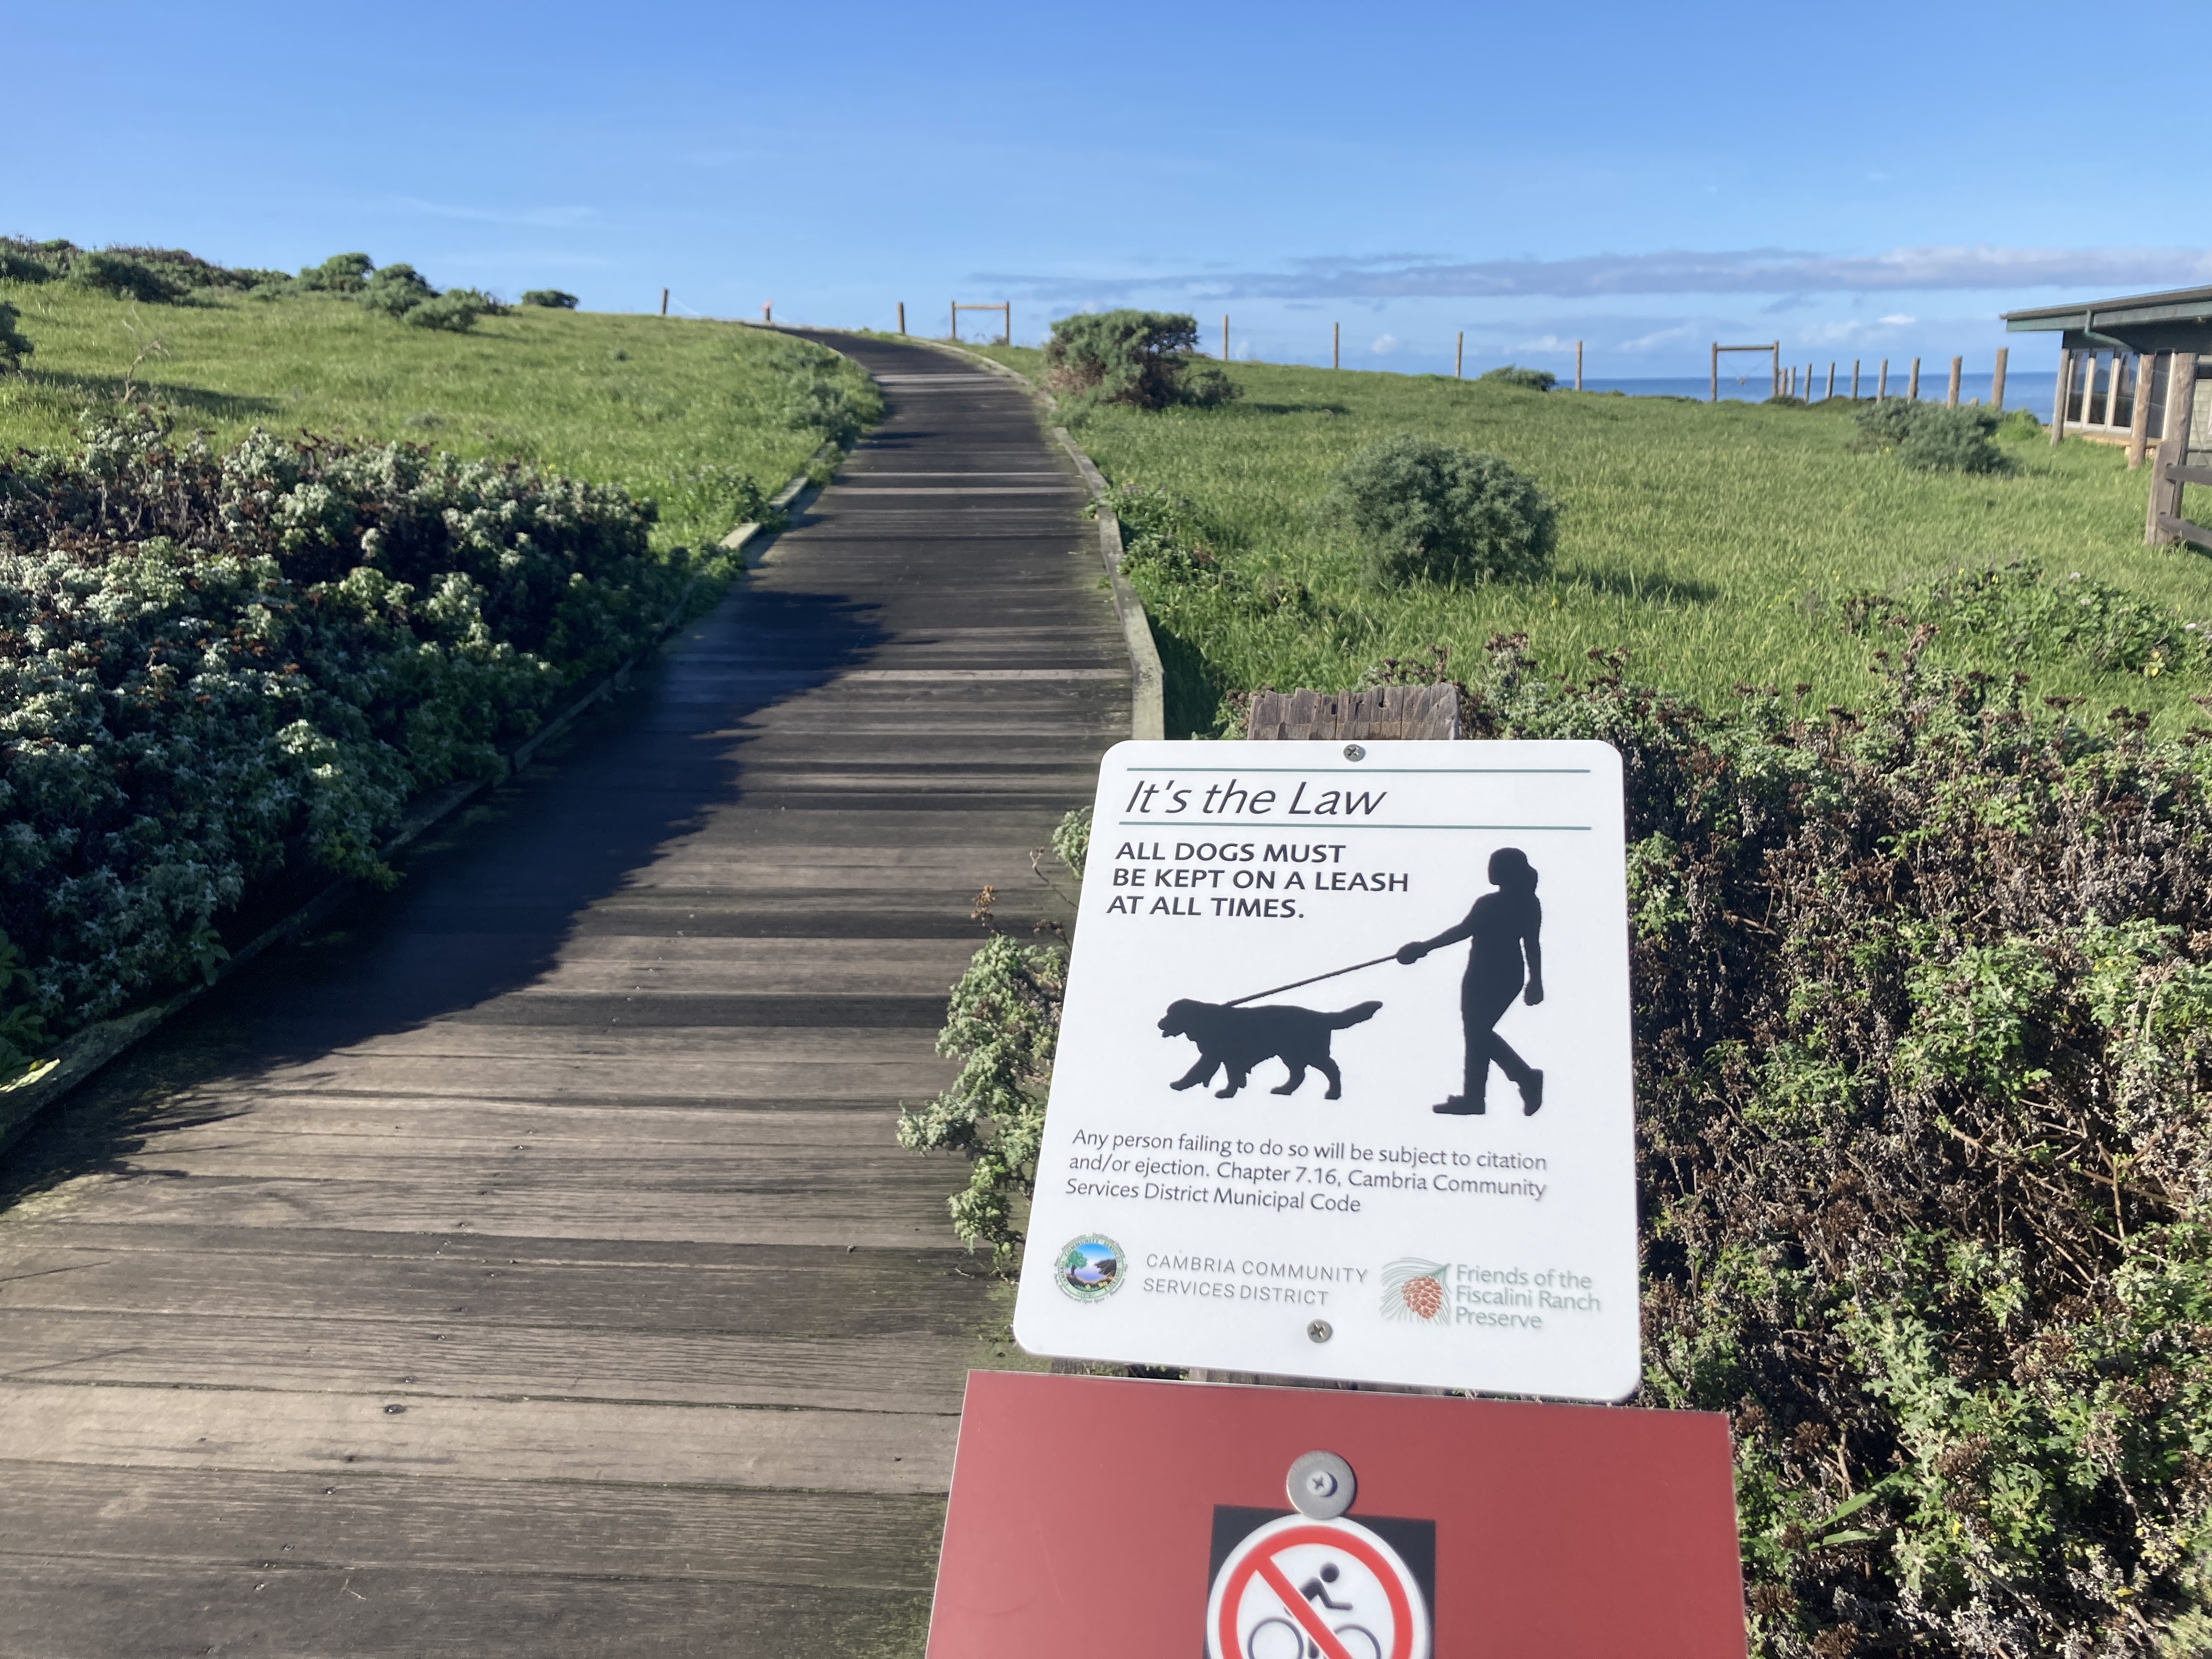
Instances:
[[[779,407],[790,363],[812,347],[734,323],[518,310],[442,334],[341,294],[204,290],[137,305],[0,283],[0,301],[35,347],[22,376],[0,374],[0,451],[71,442],[84,411],[117,403],[150,341],[159,352],[139,363],[133,396],[219,447],[268,427],[531,460],[653,495],[672,540],[728,529],[686,511],[701,469],[750,473],[772,493],[821,442]]]

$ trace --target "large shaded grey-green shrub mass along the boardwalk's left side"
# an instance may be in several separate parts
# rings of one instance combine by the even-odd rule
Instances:
[[[383,878],[692,573],[617,489],[139,416],[0,462],[0,931],[58,1035],[219,960],[281,872]]]

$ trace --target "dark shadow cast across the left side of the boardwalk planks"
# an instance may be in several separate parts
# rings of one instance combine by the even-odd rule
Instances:
[[[684,668],[653,659],[524,774],[409,847],[398,887],[356,894],[53,1108],[0,1159],[0,1214],[80,1175],[159,1177],[139,1161],[148,1135],[250,1110],[250,1095],[210,1097],[208,1084],[312,1062],[542,980],[595,900],[714,807],[743,801],[752,739],[730,728],[830,681],[883,639],[865,604],[745,582],[686,635],[745,659],[732,699],[681,699],[672,677]]]

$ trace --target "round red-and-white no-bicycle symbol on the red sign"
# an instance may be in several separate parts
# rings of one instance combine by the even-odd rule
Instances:
[[[1429,1659],[1429,1604],[1398,1551],[1349,1520],[1248,1533],[1206,1604],[1208,1659]]]

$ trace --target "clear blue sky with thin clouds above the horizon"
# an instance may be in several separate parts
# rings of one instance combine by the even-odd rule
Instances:
[[[2203,9],[1734,4],[42,7],[0,230],[296,268],[361,248],[593,310],[942,332],[1194,312],[1347,367],[1701,374],[1962,352],[2212,283],[2143,42]],[[2179,86],[2179,82],[2177,82]],[[2112,133],[2128,128],[2121,146]],[[2199,170],[2201,175],[2201,170]],[[2053,345],[2013,341],[2015,372]]]

